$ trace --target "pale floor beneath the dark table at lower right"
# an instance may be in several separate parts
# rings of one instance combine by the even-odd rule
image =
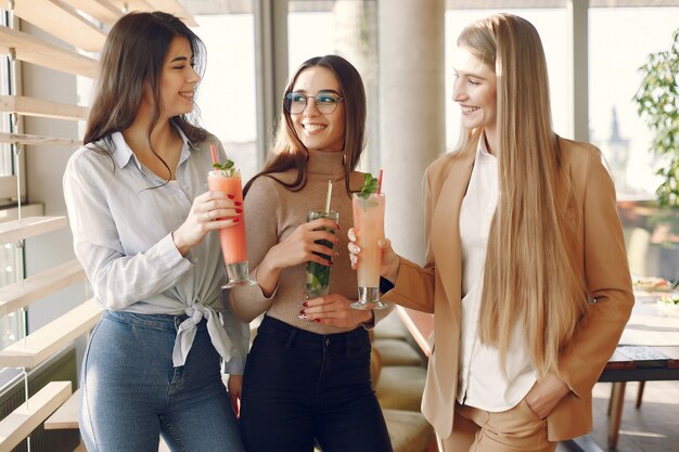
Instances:
[[[679,382],[649,382],[640,409],[635,408],[638,384],[629,383],[625,391],[625,406],[617,452],[679,452]],[[590,437],[607,451],[606,411],[611,384],[594,386],[594,430]],[[572,449],[560,444],[558,452]]]

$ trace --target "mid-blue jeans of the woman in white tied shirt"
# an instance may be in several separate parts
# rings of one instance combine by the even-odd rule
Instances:
[[[172,366],[184,315],[105,311],[82,362],[79,422],[89,452],[244,452],[203,320],[183,366]]]

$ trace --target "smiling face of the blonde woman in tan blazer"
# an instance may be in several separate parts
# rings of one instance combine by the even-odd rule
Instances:
[[[495,135],[498,109],[497,78],[492,67],[458,47],[452,99],[460,104],[462,125],[467,129],[483,127]]]

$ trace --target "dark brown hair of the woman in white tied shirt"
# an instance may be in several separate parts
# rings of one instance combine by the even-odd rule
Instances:
[[[149,126],[151,141],[151,132],[163,108],[158,80],[170,43],[176,37],[189,40],[193,63],[202,75],[205,46],[178,17],[163,12],[134,12],[116,22],[106,37],[101,55],[99,81],[87,120],[85,144],[108,140],[112,133],[131,126],[141,104],[144,83],[151,87],[153,93],[153,118]],[[207,137],[204,129],[193,125],[197,124],[196,118],[197,112],[194,111],[191,115],[175,116],[171,121],[194,142]],[[105,148],[92,148],[106,152]],[[165,164],[159,155],[156,156]]]

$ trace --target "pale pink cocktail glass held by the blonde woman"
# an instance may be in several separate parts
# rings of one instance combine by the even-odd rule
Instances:
[[[367,198],[354,194],[354,232],[356,245],[361,249],[357,264],[358,301],[351,304],[356,309],[384,309],[380,301],[380,266],[382,249],[377,245],[384,238],[384,194],[371,194]]]

